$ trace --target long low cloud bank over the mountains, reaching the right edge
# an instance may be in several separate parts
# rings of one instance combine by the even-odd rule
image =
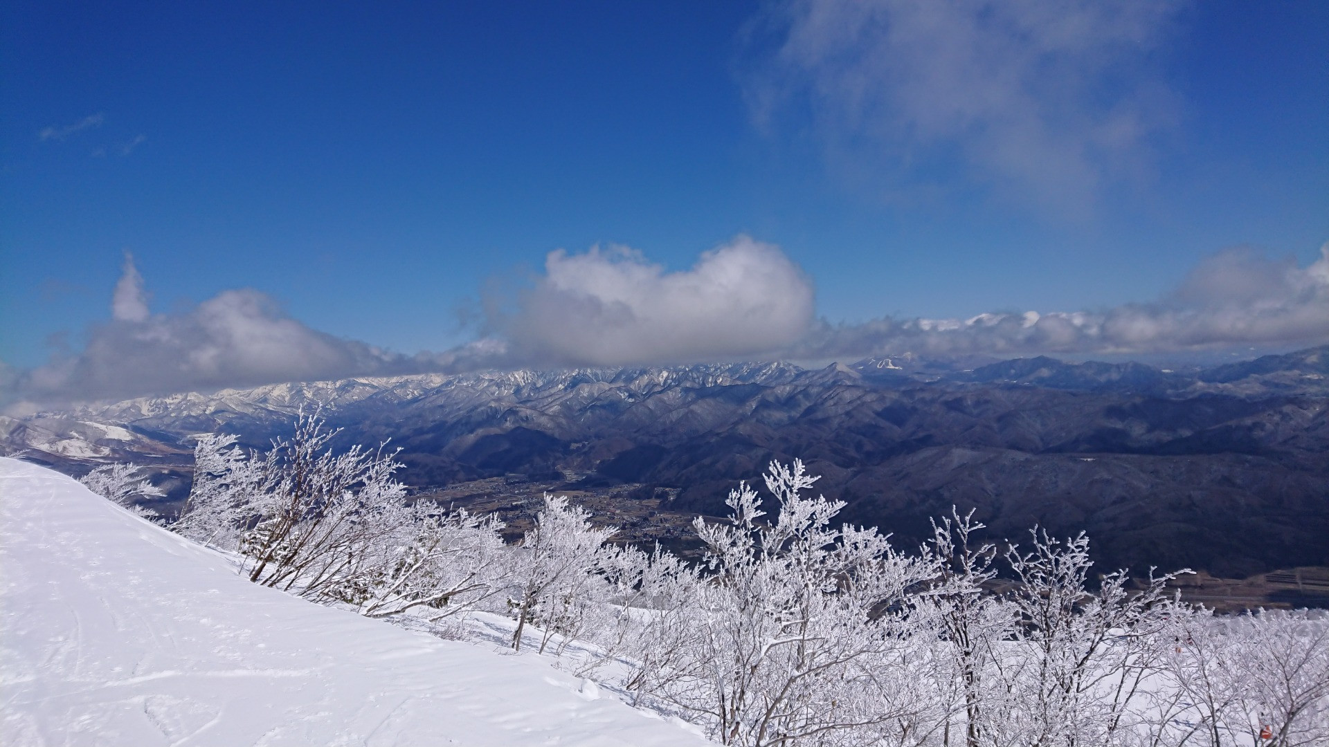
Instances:
[[[1247,249],[1201,262],[1156,303],[1102,312],[979,314],[970,319],[881,318],[820,327],[795,358],[986,354],[1143,354],[1236,346],[1329,343],[1329,243],[1306,267]]]

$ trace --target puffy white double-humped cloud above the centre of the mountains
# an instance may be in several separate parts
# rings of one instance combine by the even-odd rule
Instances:
[[[554,251],[510,315],[514,360],[617,366],[777,352],[808,330],[812,283],[777,247],[738,237],[668,272],[637,251]]]

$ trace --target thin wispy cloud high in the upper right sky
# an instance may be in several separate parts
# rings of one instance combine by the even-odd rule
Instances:
[[[1175,108],[1151,74],[1176,0],[788,0],[744,77],[756,120],[805,102],[832,150],[950,169],[1059,211],[1139,161]]]

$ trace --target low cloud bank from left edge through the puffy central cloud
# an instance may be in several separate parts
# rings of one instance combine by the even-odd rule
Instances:
[[[545,268],[514,314],[490,314],[496,336],[407,356],[312,330],[255,290],[154,315],[126,253],[112,319],[89,330],[77,355],[0,371],[0,399],[31,408],[348,376],[779,355],[812,320],[807,276],[779,249],[747,237],[704,253],[682,272],[622,247],[554,251]]]

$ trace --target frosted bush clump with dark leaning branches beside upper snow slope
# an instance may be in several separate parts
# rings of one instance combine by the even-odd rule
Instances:
[[[173,529],[235,550],[250,581],[387,617],[469,609],[500,589],[502,524],[432,504],[407,505],[389,453],[352,447],[300,413],[290,440],[245,452],[227,435],[203,436],[194,485]]]

